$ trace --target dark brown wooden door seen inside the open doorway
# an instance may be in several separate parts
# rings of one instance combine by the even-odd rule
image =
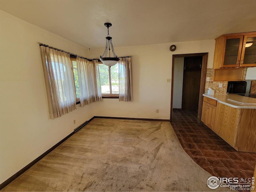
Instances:
[[[184,57],[182,110],[198,110],[202,56]]]

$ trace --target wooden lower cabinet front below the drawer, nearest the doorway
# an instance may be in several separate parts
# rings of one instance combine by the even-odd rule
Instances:
[[[216,107],[214,105],[203,102],[201,121],[211,129],[214,128],[215,110]]]

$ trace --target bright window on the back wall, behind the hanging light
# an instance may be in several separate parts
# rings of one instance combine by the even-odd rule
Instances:
[[[102,97],[118,98],[119,96],[119,64],[111,68],[99,63]]]

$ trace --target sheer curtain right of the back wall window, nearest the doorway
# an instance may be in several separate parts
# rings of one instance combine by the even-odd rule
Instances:
[[[132,101],[132,61],[130,57],[119,61],[119,101]]]

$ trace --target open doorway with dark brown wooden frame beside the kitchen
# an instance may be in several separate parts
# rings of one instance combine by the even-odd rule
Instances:
[[[198,122],[202,114],[208,53],[177,54],[172,56],[171,111],[173,109],[198,110]],[[174,85],[174,81],[175,85]],[[178,83],[177,83],[178,81]]]

